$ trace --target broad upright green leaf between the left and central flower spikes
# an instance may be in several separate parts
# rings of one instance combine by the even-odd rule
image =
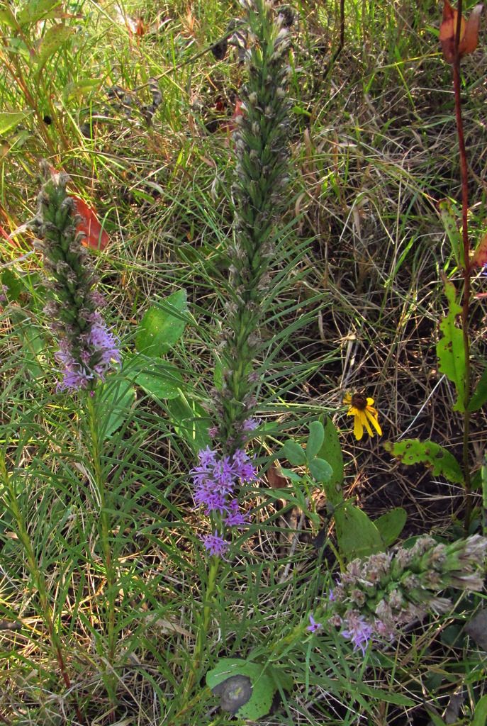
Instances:
[[[136,332],[135,347],[139,353],[162,356],[181,338],[186,323],[186,290],[177,290],[147,310]]]

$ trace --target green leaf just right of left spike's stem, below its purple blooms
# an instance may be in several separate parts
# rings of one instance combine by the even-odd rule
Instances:
[[[94,401],[99,415],[99,430],[104,439],[110,439],[124,421],[136,399],[131,381],[120,375],[111,375],[103,386],[95,390]]]

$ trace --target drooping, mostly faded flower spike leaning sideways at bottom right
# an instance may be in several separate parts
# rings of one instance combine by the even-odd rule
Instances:
[[[325,614],[354,650],[365,653],[371,641],[394,640],[429,611],[448,611],[453,603],[438,597],[442,590],[482,590],[486,550],[487,538],[479,534],[451,544],[425,536],[409,549],[353,560],[330,591]],[[314,619],[311,625],[316,632]]]

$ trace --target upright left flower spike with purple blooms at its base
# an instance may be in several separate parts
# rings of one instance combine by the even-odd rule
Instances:
[[[54,173],[47,163],[41,171],[46,181],[38,196],[36,229],[48,278],[45,311],[59,339],[54,357],[62,378],[57,387],[92,390],[112,364],[120,362],[118,343],[98,310],[104,300],[94,287],[96,278],[81,245],[83,234],[76,232],[75,205],[66,192],[69,178]]]

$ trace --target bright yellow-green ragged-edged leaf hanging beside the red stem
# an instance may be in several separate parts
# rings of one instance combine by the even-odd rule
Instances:
[[[445,283],[445,294],[448,300],[449,314],[440,323],[440,330],[443,338],[436,344],[438,356],[438,369],[454,383],[457,390],[457,402],[454,404],[454,411],[465,410],[465,346],[463,333],[455,321],[462,312],[457,303],[457,291],[453,282]]]

